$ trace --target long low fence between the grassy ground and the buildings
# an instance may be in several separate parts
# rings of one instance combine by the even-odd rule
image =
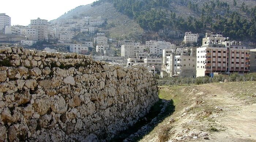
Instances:
[[[213,82],[247,82],[256,81],[256,78],[245,78],[245,77],[222,77],[222,78],[171,78],[168,80],[158,80],[158,86],[163,85],[182,85],[182,84],[205,84]]]

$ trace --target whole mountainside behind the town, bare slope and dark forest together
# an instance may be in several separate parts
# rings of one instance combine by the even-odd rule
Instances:
[[[214,31],[234,40],[256,42],[256,1],[98,0],[90,6],[75,8],[61,18],[100,15],[113,23],[107,31],[114,38],[172,40],[181,38],[185,31]]]

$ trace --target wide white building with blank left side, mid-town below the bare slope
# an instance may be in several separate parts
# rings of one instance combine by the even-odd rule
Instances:
[[[145,45],[140,43],[124,44],[121,46],[121,56],[136,57],[137,52],[144,52]]]

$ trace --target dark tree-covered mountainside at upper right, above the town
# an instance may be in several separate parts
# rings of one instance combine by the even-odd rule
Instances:
[[[255,1],[98,0],[91,6],[104,3],[113,4],[146,31],[214,31],[231,39],[256,42]]]

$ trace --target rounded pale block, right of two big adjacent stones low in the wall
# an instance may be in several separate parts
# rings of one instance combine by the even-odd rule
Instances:
[[[62,96],[56,96],[56,98],[51,101],[50,107],[54,113],[59,114],[65,113],[68,109],[68,106]]]

